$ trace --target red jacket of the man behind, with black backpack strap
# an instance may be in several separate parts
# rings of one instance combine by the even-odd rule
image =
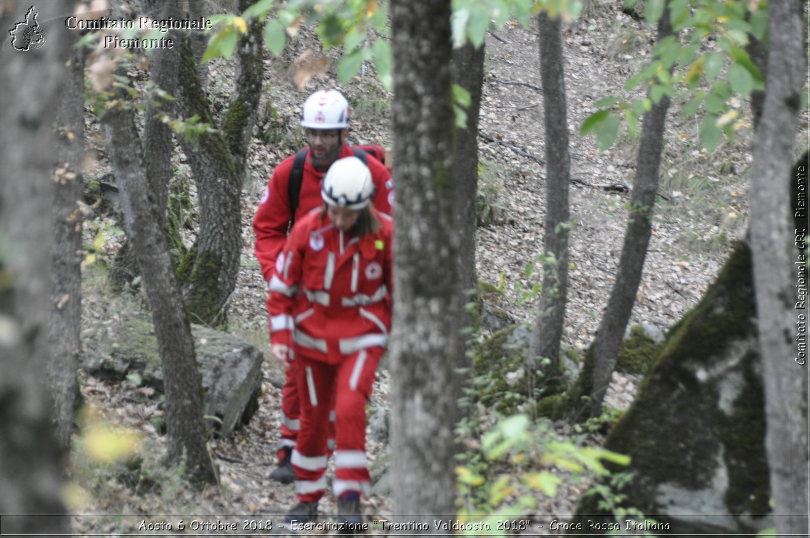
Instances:
[[[339,158],[354,155],[352,147],[343,144]],[[275,267],[275,258],[281,252],[284,241],[287,241],[287,228],[290,221],[290,199],[288,194],[290,171],[295,156],[289,156],[279,163],[270,177],[270,184],[262,195],[254,216],[254,233],[256,243],[254,253],[258,262],[262,264],[264,280],[270,282]],[[386,215],[391,214],[391,205],[394,203],[394,184],[385,165],[373,156],[368,156],[367,164],[371,170],[374,186],[373,204]],[[323,172],[313,168],[312,154],[306,156],[304,163],[304,177],[301,178],[301,194],[298,196],[296,222],[315,207],[321,207],[321,180]]]

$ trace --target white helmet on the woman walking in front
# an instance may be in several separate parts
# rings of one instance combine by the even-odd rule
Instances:
[[[369,167],[354,156],[335,160],[321,183],[321,198],[330,206],[362,209],[373,195]]]

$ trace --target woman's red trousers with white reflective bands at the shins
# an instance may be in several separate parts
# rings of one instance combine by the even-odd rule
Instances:
[[[313,502],[326,493],[327,438],[330,410],[335,409],[336,496],[344,491],[368,494],[371,487],[365,459],[365,404],[371,395],[377,365],[385,350],[361,349],[339,365],[327,365],[295,354],[298,394],[301,398],[301,429],[292,468],[296,472],[296,497]]]

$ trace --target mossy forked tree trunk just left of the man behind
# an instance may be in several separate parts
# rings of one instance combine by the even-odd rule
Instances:
[[[254,3],[241,2],[240,8]],[[241,189],[250,135],[262,89],[261,28],[249,26],[237,45],[237,80],[223,130],[200,134],[192,143],[181,141],[189,160],[200,207],[194,250],[178,271],[184,280],[185,305],[194,322],[222,325],[228,299],[236,287],[241,254]],[[215,126],[200,83],[188,39],[181,48],[180,105],[185,117]]]

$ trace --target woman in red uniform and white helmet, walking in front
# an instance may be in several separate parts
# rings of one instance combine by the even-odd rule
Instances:
[[[335,409],[335,480],[342,523],[360,523],[369,492],[365,404],[390,332],[390,217],[369,203],[374,183],[354,157],[335,161],[322,199],[292,228],[270,284],[272,352],[296,361],[301,429],[292,451],[298,505],[289,519],[312,521],[326,493],[327,425]]]

